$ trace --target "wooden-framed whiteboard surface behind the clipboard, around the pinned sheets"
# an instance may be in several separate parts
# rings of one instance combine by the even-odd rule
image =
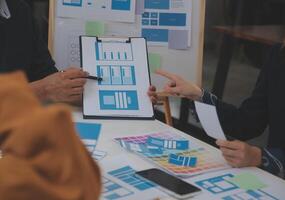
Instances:
[[[88,18],[62,18],[62,13],[58,12],[58,5],[65,0],[50,1],[50,27],[49,27],[49,48],[59,69],[68,66],[79,66],[79,35],[86,35],[86,21],[100,21],[105,25],[103,36],[115,37],[137,37],[141,36],[142,15],[136,15],[134,22],[117,22],[104,20],[102,17]],[[90,0],[89,0],[90,1]],[[102,1],[102,0],[100,0]],[[110,0],[111,1],[111,0]],[[145,0],[151,1],[151,0]],[[156,1],[156,0],[154,0]],[[165,0],[168,1],[168,0]],[[175,3],[182,0],[170,0]],[[191,27],[189,47],[183,50],[170,49],[168,46],[148,45],[150,53],[159,54],[161,57],[161,68],[168,70],[183,78],[201,86],[202,82],[202,60],[204,45],[204,20],[205,20],[205,0],[186,0],[191,1]],[[131,0],[137,5],[144,0]],[[78,15],[78,13],[77,13]],[[69,61],[67,64],[67,60]],[[158,89],[161,89],[165,80],[155,74],[151,74],[151,82]],[[180,101],[171,99],[171,110],[175,117],[179,116]]]

